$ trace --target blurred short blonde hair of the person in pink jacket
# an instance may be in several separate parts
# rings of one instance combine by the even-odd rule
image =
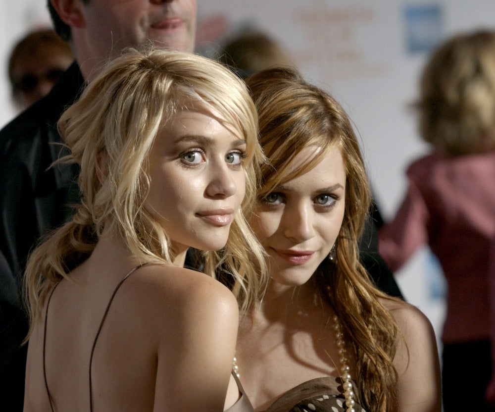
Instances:
[[[419,131],[451,156],[495,149],[495,32],[459,34],[428,60],[420,81]]]

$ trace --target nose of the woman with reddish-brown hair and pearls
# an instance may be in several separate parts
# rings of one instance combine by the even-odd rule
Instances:
[[[283,232],[287,238],[304,242],[314,237],[313,213],[310,205],[287,205],[283,216]]]

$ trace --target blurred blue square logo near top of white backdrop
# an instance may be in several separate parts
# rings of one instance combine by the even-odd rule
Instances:
[[[404,8],[406,49],[410,53],[428,52],[443,36],[443,8],[440,4],[414,4]]]

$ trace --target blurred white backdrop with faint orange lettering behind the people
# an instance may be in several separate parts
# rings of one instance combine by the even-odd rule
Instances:
[[[6,59],[28,28],[49,24],[45,0],[0,3],[0,125],[14,111]],[[226,36],[259,28],[278,40],[303,74],[343,104],[361,136],[375,195],[386,219],[405,189],[404,169],[427,147],[407,110],[431,48],[464,30],[493,28],[493,0],[198,0],[198,51]],[[396,274],[405,297],[440,333],[442,279],[427,248]]]

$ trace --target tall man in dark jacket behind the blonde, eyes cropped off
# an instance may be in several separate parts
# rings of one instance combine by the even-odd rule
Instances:
[[[149,40],[194,51],[196,0],[49,0],[59,36],[74,63],[48,96],[0,131],[0,385],[10,410],[22,410],[28,330],[22,308],[22,273],[29,251],[72,215],[78,203],[78,168],[50,167],[60,155],[56,122],[108,57]]]

